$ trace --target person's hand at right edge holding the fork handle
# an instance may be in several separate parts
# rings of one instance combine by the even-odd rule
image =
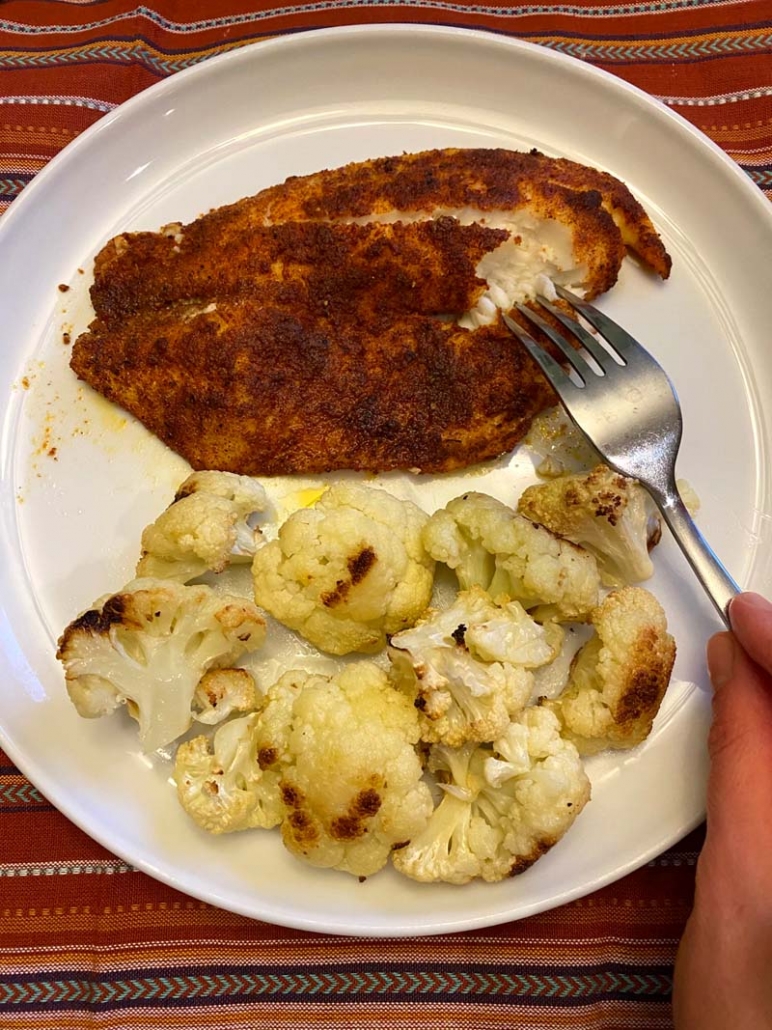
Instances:
[[[677,1030],[772,1028],[772,604],[744,593],[708,643],[707,833],[678,949]]]

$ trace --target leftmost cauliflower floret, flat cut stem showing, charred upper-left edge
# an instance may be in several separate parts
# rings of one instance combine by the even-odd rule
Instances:
[[[197,690],[206,692],[209,671],[222,670],[224,676],[265,634],[265,619],[242,597],[204,585],[137,579],[71,622],[57,657],[81,716],[109,715],[126,705],[139,722],[142,747],[154,751],[188,729],[197,708],[213,722],[215,711],[223,718],[245,696],[250,701],[252,694],[245,695],[243,677],[235,671],[220,680],[216,703],[210,697],[207,705]]]

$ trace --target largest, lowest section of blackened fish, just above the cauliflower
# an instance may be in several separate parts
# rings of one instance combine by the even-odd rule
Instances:
[[[459,469],[511,450],[555,403],[498,324],[364,327],[243,295],[96,327],[72,367],[194,469],[255,476]]]

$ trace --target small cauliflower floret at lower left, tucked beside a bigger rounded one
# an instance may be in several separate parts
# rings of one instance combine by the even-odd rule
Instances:
[[[174,782],[185,812],[209,833],[232,833],[281,822],[274,784],[267,784],[255,744],[256,713],[232,719],[212,741],[196,736],[177,748]]]

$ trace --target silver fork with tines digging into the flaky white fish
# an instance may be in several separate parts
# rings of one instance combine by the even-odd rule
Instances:
[[[670,380],[655,358],[621,325],[562,286],[555,288],[605,340],[608,349],[547,299],[538,298],[539,304],[578,341],[592,360],[533,310],[520,304],[517,307],[558,347],[573,369],[573,378],[506,314],[504,322],[538,363],[576,428],[601,459],[615,472],[637,479],[652,495],[697,578],[729,625],[729,603],[740,588],[710,549],[678,493],[675,458],[682,421]]]

